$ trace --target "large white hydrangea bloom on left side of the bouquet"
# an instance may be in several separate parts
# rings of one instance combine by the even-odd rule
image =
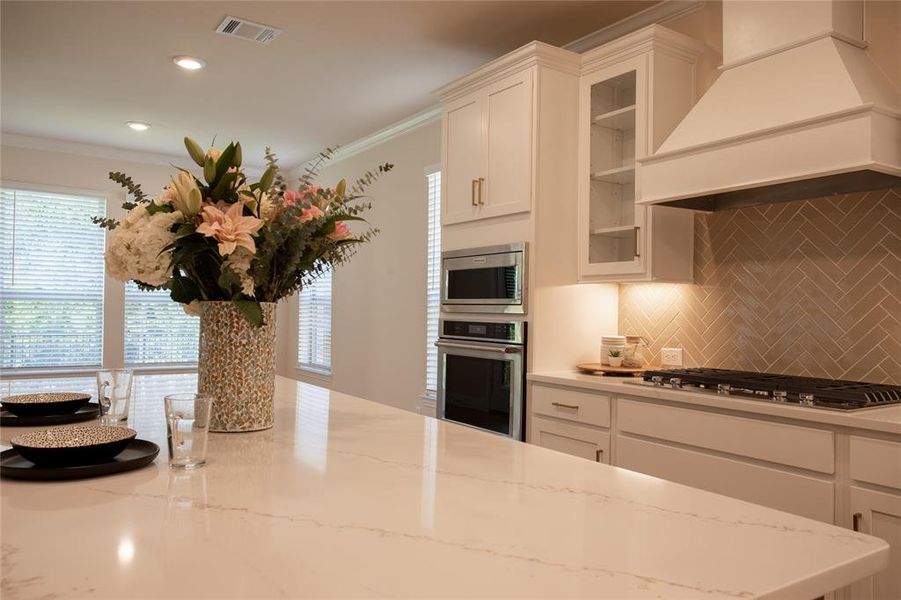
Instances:
[[[163,285],[172,274],[163,248],[175,240],[172,226],[183,221],[178,212],[150,215],[144,205],[128,213],[113,230],[106,249],[106,270],[120,281],[136,280],[148,285]]]

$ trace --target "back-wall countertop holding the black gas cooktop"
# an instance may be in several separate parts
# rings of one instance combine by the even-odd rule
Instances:
[[[569,387],[598,390],[611,394],[624,394],[656,398],[667,402],[679,402],[696,406],[723,408],[759,415],[770,415],[824,425],[836,425],[852,429],[881,431],[901,435],[901,404],[884,408],[868,408],[857,411],[839,411],[807,408],[790,404],[777,404],[714,393],[672,390],[666,387],[636,385],[639,378],[603,377],[586,375],[576,371],[550,371],[530,373],[529,381],[551,383]]]

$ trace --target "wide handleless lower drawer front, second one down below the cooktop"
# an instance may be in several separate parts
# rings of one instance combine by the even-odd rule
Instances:
[[[813,477],[626,436],[616,438],[616,465],[818,521],[833,521],[833,485]]]

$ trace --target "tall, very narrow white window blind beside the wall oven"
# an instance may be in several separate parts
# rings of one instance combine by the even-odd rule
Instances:
[[[438,313],[441,309],[441,171],[426,175],[429,223],[426,282],[426,394],[438,390]]]

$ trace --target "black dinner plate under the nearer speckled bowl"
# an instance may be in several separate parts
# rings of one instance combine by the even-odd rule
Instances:
[[[102,477],[123,471],[140,469],[152,463],[160,453],[160,447],[147,440],[132,440],[125,450],[110,461],[71,467],[39,467],[22,458],[16,450],[0,452],[0,476],[10,479],[34,481],[64,481]]]

